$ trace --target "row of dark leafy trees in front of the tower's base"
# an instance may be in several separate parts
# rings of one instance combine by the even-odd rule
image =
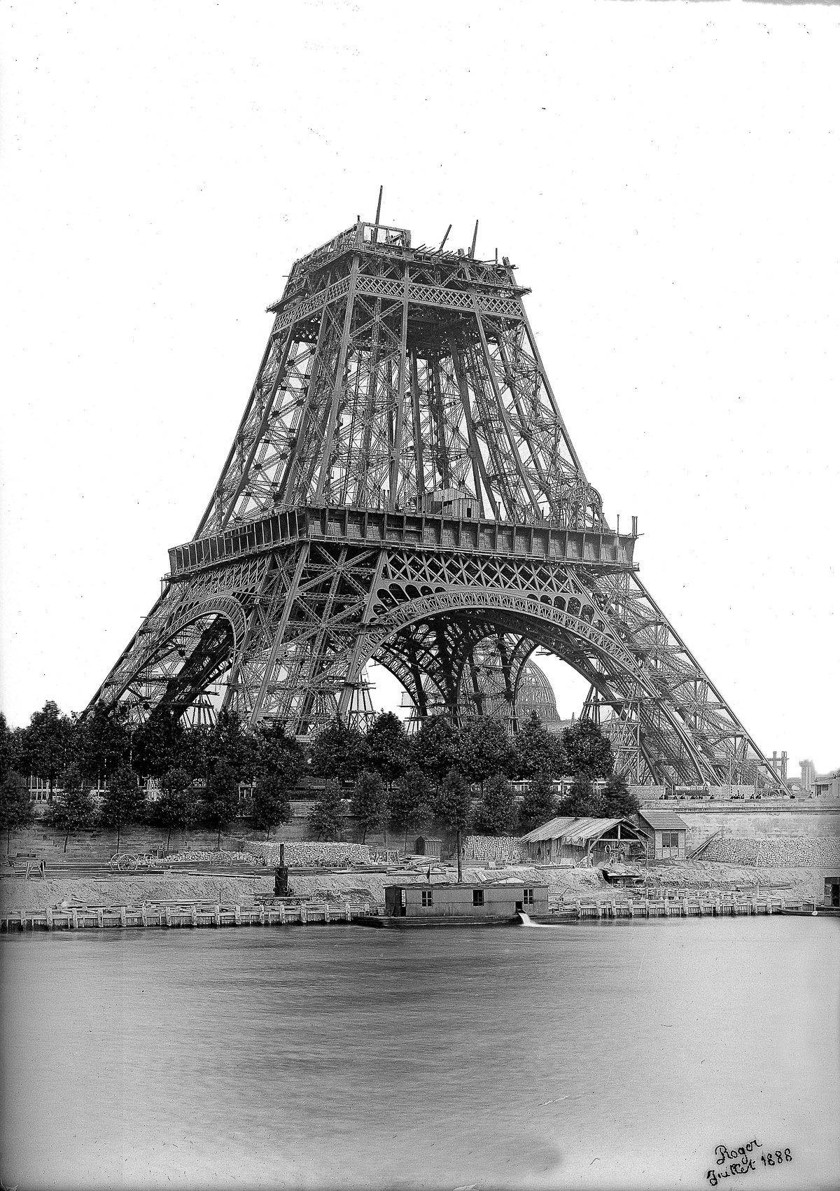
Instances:
[[[306,772],[325,779],[310,816],[317,838],[340,836],[347,803],[362,834],[388,829],[407,841],[411,828],[436,822],[459,836],[527,831],[556,813],[626,815],[635,807],[626,784],[612,775],[612,750],[596,724],[580,719],[558,736],[533,715],[511,737],[496,719],[475,717],[462,727],[444,717],[424,719],[409,736],[391,712],[367,731],[335,721],[309,750],[281,725],[251,730],[223,712],[211,728],[189,728],[156,709],[132,728],[125,712],[97,707],[83,721],[63,716],[55,703],[23,729],[0,713],[0,815],[7,835],[31,819],[20,773],[35,773],[61,790],[46,823],[69,835],[97,822],[116,827],[150,822],[168,829],[195,823],[222,830],[239,812],[239,784],[250,787],[245,807],[266,830],[288,822],[291,794]],[[157,797],[147,800],[144,782]],[[511,779],[529,779],[517,803]],[[558,798],[555,782],[566,780]],[[91,787],[101,790],[94,800]],[[475,805],[478,796],[478,804]]]

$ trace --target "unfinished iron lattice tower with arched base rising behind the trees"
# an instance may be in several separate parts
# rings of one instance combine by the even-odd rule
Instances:
[[[606,524],[528,292],[506,257],[375,223],[299,260],[195,535],[91,705],[194,718],[217,690],[304,735],[366,706],[374,660],[418,716],[504,705],[516,729],[541,647],[630,780],[780,788],[642,585],[635,519]]]

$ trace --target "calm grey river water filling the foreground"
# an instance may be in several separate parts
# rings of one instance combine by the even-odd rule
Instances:
[[[840,1183],[826,918],[106,930],[0,958],[20,1191],[697,1187],[753,1140],[727,1189]]]

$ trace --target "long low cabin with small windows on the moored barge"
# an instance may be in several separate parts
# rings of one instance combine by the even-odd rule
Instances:
[[[548,913],[548,886],[521,881],[481,885],[386,885],[385,913],[390,918],[460,918],[487,921],[512,918],[517,912]]]

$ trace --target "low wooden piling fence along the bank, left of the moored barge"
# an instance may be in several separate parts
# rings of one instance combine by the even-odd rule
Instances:
[[[375,913],[375,906],[373,912]],[[206,903],[145,906],[69,906],[20,910],[0,918],[0,931],[88,930],[111,927],[287,927],[353,922],[369,917],[369,902],[303,902],[279,905],[224,906]]]

